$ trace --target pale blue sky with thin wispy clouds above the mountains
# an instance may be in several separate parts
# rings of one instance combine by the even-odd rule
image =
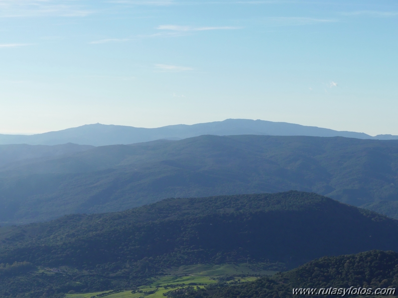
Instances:
[[[0,0],[0,133],[397,114],[397,0]]]

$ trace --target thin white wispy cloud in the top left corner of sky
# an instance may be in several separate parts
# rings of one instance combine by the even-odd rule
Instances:
[[[93,11],[68,0],[0,0],[0,17],[86,16]]]

